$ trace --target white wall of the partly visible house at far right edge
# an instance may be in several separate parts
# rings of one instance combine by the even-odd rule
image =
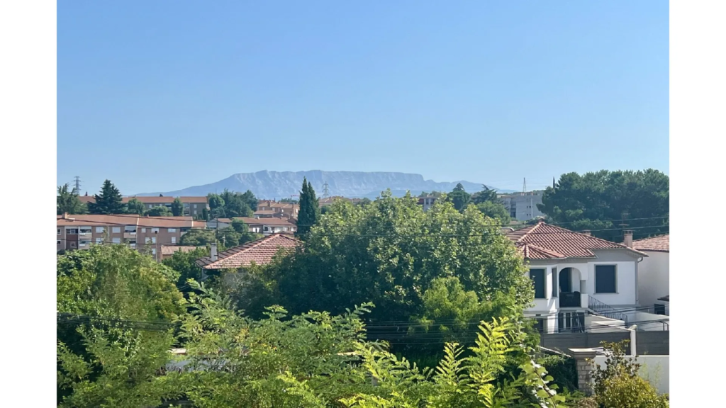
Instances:
[[[643,306],[654,304],[666,304],[658,301],[665,295],[669,295],[669,253],[667,252],[645,252],[648,258],[638,265],[638,301]]]

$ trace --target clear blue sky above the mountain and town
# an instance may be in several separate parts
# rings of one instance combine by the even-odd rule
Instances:
[[[668,172],[668,2],[60,1],[59,184]]]

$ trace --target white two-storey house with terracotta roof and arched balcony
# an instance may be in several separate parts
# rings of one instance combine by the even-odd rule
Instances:
[[[507,237],[529,264],[534,306],[526,316],[537,318],[542,332],[584,332],[593,316],[633,322],[646,253],[544,222]]]

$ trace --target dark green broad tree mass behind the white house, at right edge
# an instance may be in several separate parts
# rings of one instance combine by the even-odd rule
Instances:
[[[539,211],[568,229],[591,229],[597,237],[619,242],[622,229],[634,237],[668,232],[669,177],[660,171],[597,171],[560,176],[547,187]]]

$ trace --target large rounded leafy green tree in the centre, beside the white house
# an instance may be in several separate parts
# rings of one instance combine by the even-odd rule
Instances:
[[[260,279],[295,313],[372,301],[373,318],[407,320],[423,312],[431,282],[449,276],[482,300],[508,293],[522,308],[533,298],[531,282],[499,227],[473,207],[460,213],[444,203],[424,212],[409,195],[384,192],[364,206],[341,200],[310,230],[304,250],[273,261]]]

